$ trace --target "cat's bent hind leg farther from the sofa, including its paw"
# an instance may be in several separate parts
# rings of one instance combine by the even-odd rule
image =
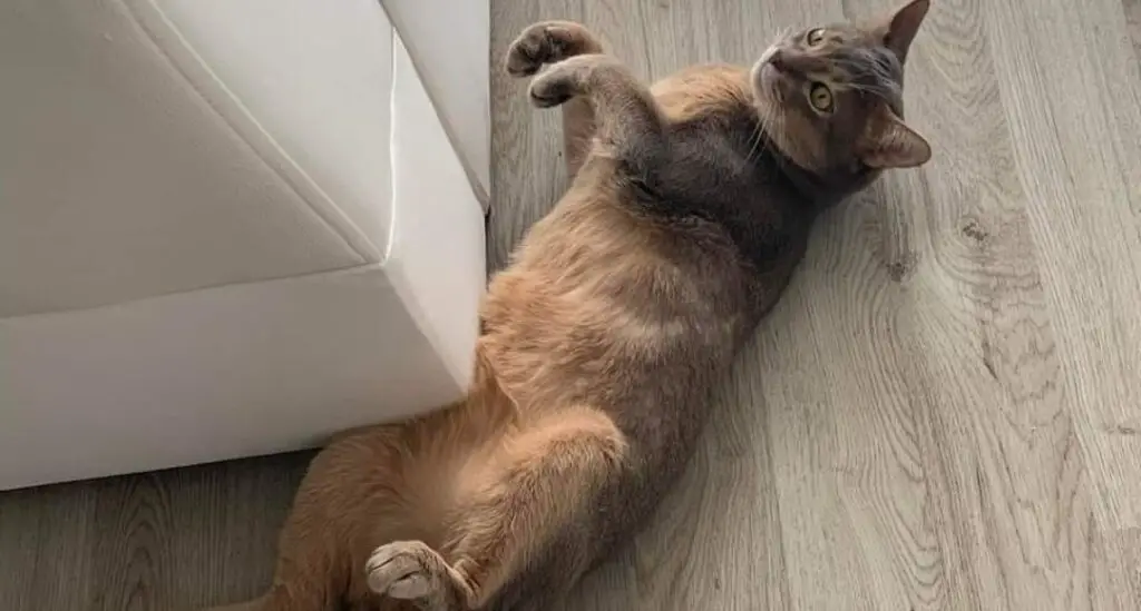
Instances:
[[[418,540],[382,545],[365,567],[369,586],[423,611],[484,608],[589,514],[625,456],[624,437],[596,409],[559,410],[524,426],[466,469],[442,549]],[[591,560],[585,556],[578,575]]]

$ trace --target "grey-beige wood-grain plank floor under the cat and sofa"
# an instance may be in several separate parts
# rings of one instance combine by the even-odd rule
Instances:
[[[569,17],[661,76],[895,1],[492,3],[496,56]],[[565,184],[557,115],[493,91],[500,263]],[[1141,609],[1141,0],[934,0],[907,98],[933,161],[818,227],[678,494],[568,611]],[[0,610],[251,595],[307,458],[0,495]]]

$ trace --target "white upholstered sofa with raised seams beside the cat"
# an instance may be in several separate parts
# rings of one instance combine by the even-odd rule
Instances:
[[[488,0],[0,3],[0,489],[467,384]]]

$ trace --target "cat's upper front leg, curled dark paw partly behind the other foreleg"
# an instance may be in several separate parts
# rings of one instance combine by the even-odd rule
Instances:
[[[568,57],[602,52],[602,43],[575,22],[551,21],[529,25],[508,47],[503,62],[508,74],[532,76],[548,64]],[[584,99],[563,105],[563,154],[567,174],[578,173],[594,136],[594,109]]]

